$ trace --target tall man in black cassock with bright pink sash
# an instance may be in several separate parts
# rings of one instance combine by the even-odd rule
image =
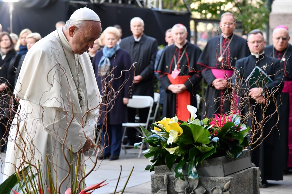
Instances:
[[[207,82],[206,106],[203,105],[203,114],[206,113],[208,118],[213,117],[213,114],[224,114],[230,111],[231,90],[226,90],[226,87],[216,89],[214,85],[223,83],[217,79],[227,80],[233,73],[231,67],[235,65],[235,62],[250,54],[247,41],[233,33],[234,21],[233,14],[228,12],[225,15],[222,14],[220,22],[222,33],[208,41],[198,59],[202,76]]]

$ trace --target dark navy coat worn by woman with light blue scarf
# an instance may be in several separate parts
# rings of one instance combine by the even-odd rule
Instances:
[[[101,59],[101,57],[103,56],[103,51],[99,50],[92,61],[92,65],[93,65],[93,69],[94,69],[94,74],[95,74],[95,78],[98,84],[98,89],[100,90],[102,99],[103,99],[103,103],[104,101],[111,101],[111,105],[108,106],[107,110],[110,110],[109,113],[107,114],[107,123],[108,124],[121,124],[121,123],[126,123],[127,122],[127,105],[123,104],[123,98],[132,98],[132,93],[133,93],[133,89],[131,87],[132,83],[133,83],[133,79],[134,79],[134,68],[131,67],[132,65],[132,60],[130,57],[130,54],[123,49],[119,49],[116,52],[116,56],[113,55],[112,58],[110,58],[110,62],[111,62],[111,69],[113,67],[115,67],[112,70],[112,77],[114,79],[112,79],[111,87],[109,86],[105,86],[104,82],[108,81],[109,79],[111,79],[112,77],[109,76],[107,77],[107,79],[105,80],[105,76],[100,77],[98,76],[98,63]],[[123,70],[129,70],[130,71],[124,71]],[[123,88],[121,88],[121,85],[125,84]],[[117,91],[120,89],[120,92],[117,93]],[[103,97],[104,92],[107,92],[108,97],[105,99]],[[114,95],[116,96],[116,99],[114,101],[112,101]],[[105,116],[105,106],[100,107],[101,109],[101,117],[98,120],[98,123],[104,123],[104,116]]]

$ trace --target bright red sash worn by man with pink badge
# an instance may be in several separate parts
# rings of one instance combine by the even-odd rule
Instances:
[[[177,76],[176,79],[173,79],[171,75],[168,74],[167,77],[171,84],[184,84],[190,78],[190,75],[181,75]],[[191,94],[187,90],[184,90],[182,93],[176,94],[176,116],[178,119],[182,121],[187,121],[190,118],[190,112],[187,109],[187,105],[190,104]]]

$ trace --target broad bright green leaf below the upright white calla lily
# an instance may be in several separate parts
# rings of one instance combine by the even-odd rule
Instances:
[[[189,124],[192,131],[194,143],[208,144],[210,143],[210,132],[202,126]]]

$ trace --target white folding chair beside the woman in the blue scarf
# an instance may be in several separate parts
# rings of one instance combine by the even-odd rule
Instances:
[[[147,117],[146,123],[123,123],[124,132],[123,132],[122,142],[124,141],[127,127],[135,128],[138,131],[138,133],[140,134],[140,136],[143,136],[143,133],[142,133],[142,131],[140,129],[140,125],[145,127],[146,129],[149,128],[148,125],[149,125],[150,114],[151,114],[151,111],[152,111],[153,101],[154,100],[153,100],[153,98],[151,96],[133,96],[132,98],[129,99],[129,103],[127,104],[128,107],[136,108],[136,109],[148,108],[149,107],[149,113],[148,113],[148,117]],[[142,139],[142,141],[144,141],[144,140]],[[144,143],[139,145],[140,148],[139,148],[138,158],[140,157],[140,155],[142,153],[143,144]],[[125,153],[127,153],[125,148],[126,147],[133,147],[134,148],[134,145],[124,145],[122,143],[121,147],[124,149]],[[135,153],[137,153],[137,152],[135,152]]]

